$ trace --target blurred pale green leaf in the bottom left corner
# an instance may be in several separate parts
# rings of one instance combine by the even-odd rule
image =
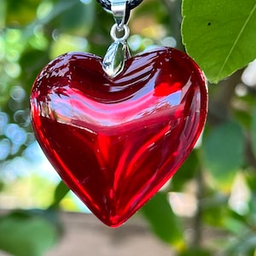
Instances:
[[[15,256],[41,256],[55,245],[57,230],[45,218],[13,212],[0,218],[0,249]]]

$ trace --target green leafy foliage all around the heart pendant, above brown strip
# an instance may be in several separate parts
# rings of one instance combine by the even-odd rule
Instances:
[[[209,116],[198,147],[138,214],[177,255],[253,256],[256,69],[245,66],[256,57],[256,4],[183,0],[183,18],[181,5],[143,1],[129,23],[131,52],[185,45],[215,83],[209,84]],[[44,255],[61,236],[58,209],[79,209],[50,167],[38,164],[29,93],[57,55],[80,50],[103,56],[112,25],[112,16],[93,0],[0,1],[0,208],[23,208],[1,216],[0,250]],[[206,241],[206,230],[218,236]]]

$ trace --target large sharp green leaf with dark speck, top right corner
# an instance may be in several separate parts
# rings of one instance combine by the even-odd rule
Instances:
[[[183,0],[183,44],[212,83],[256,58],[255,0]]]

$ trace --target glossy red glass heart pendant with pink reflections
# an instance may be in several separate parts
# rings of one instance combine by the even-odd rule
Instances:
[[[104,224],[119,226],[189,155],[206,121],[207,86],[177,49],[132,57],[113,79],[102,58],[68,53],[39,73],[31,113],[67,186]]]

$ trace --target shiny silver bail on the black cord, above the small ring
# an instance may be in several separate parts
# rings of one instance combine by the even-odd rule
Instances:
[[[111,11],[119,30],[124,29],[128,0],[111,0]]]

